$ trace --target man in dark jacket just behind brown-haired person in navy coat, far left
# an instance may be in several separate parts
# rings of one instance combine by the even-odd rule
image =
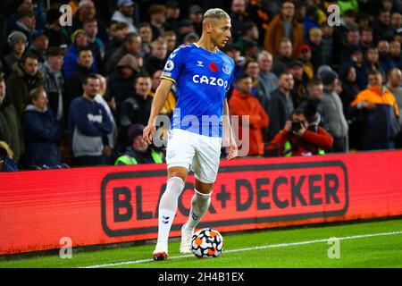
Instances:
[[[7,80],[7,88],[13,105],[20,116],[30,103],[30,90],[42,86],[43,81],[44,75],[38,70],[36,55],[24,55],[21,62],[14,63],[12,74]]]

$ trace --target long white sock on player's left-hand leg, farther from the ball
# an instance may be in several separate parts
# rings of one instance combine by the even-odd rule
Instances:
[[[181,192],[184,189],[184,181],[179,177],[172,177],[167,181],[161,202],[159,203],[158,244],[166,244],[171,231],[177,204]]]

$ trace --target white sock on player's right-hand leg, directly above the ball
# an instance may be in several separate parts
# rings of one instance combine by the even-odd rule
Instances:
[[[188,215],[188,222],[184,227],[186,231],[193,232],[196,228],[198,222],[201,220],[203,215],[206,213],[210,203],[211,203],[211,194],[203,194],[194,189],[195,193],[193,198],[191,199],[191,209]]]

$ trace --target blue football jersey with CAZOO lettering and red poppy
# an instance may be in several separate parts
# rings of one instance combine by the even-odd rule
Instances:
[[[171,129],[222,137],[223,102],[233,71],[233,60],[219,49],[209,52],[196,44],[175,49],[161,75],[177,85]]]

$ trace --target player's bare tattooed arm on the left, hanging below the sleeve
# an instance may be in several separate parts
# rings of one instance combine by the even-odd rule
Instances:
[[[161,109],[166,102],[169,91],[173,85],[172,80],[161,80],[159,87],[156,88],[155,97],[152,100],[151,114],[149,115],[148,125],[143,131],[143,137],[148,144],[151,144],[152,138],[154,137],[156,126],[156,117],[161,112]]]

